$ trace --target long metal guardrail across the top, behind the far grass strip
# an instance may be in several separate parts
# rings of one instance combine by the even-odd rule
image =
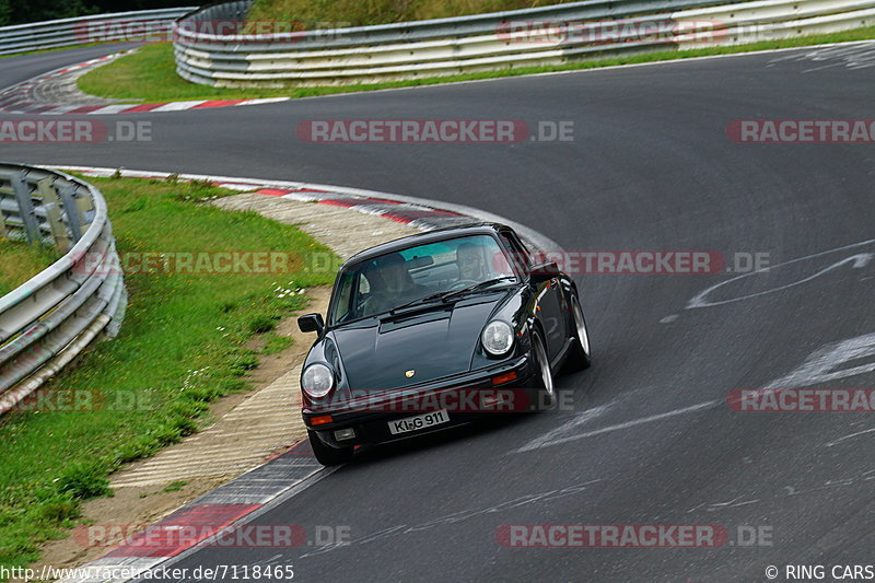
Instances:
[[[176,21],[174,53],[177,73],[194,83],[345,85],[750,43],[875,24],[875,0],[731,1],[587,0],[453,19],[241,35],[252,4],[243,0],[207,7]],[[514,39],[514,24],[536,21],[570,23],[571,28],[555,43]],[[230,27],[237,34],[209,34],[207,25],[217,22],[237,22],[236,28]],[[668,33],[642,35],[644,23]],[[606,27],[614,25],[617,33],[605,35]]]

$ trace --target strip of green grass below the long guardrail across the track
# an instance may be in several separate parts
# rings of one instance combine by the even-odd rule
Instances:
[[[775,48],[802,47],[808,45],[822,45],[850,40],[864,40],[875,38],[875,26],[856,28],[842,33],[804,36],[782,40],[766,40],[748,45],[721,46],[695,50],[666,50],[641,55],[627,55],[609,57],[597,60],[578,61],[551,67],[526,67],[518,69],[502,69],[483,73],[458,74],[410,81],[396,81],[390,83],[373,83],[348,86],[325,88],[295,88],[285,89],[228,89],[197,85],[183,80],[176,74],[173,60],[173,47],[166,44],[149,45],[133,55],[121,57],[104,67],[98,67],[81,78],[79,88],[85,93],[102,97],[117,100],[136,100],[144,103],[185,101],[185,100],[243,100],[256,97],[289,96],[293,98],[310,97],[315,95],[329,95],[337,93],[351,93],[359,91],[374,91],[392,88],[407,88],[419,85],[433,85],[457,81],[474,81],[480,79],[495,79],[522,74],[542,73],[550,71],[571,71],[579,69],[594,69],[617,65],[632,65],[642,62],[687,59],[713,55],[728,55],[734,53],[750,53]]]

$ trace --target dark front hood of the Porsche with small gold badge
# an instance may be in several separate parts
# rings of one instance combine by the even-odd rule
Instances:
[[[335,329],[349,386],[402,388],[470,371],[480,333],[509,293],[478,294],[455,305]]]

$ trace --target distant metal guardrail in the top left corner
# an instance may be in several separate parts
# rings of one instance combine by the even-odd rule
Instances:
[[[97,42],[131,40],[136,39],[138,31],[166,35],[173,21],[196,9],[197,7],[138,10],[0,26],[0,55]]]

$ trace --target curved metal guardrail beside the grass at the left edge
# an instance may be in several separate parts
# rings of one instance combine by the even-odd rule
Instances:
[[[65,253],[0,296],[0,413],[103,333],[118,333],[127,292],[100,190],[61,172],[0,163],[0,235]]]

